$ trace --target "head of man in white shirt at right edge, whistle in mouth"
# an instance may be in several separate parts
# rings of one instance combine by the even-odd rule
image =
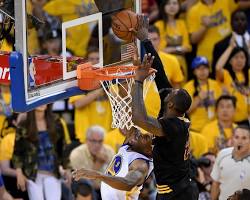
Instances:
[[[239,153],[250,152],[250,128],[249,125],[239,125],[233,133],[234,150]]]

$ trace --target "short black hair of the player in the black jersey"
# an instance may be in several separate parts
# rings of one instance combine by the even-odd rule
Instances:
[[[181,114],[188,111],[192,104],[192,98],[185,89],[179,89],[177,94],[173,97],[175,110]]]

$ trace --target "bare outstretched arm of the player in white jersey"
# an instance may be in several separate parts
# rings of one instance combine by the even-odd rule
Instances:
[[[148,164],[145,160],[135,160],[129,166],[129,172],[125,177],[106,175],[88,169],[79,169],[73,172],[73,178],[76,181],[81,178],[100,180],[115,189],[130,191],[133,187],[143,184],[148,170]]]

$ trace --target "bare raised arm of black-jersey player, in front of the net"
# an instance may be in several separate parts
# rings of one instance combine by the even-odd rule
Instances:
[[[163,136],[161,124],[157,119],[148,116],[143,100],[143,81],[152,73],[150,69],[153,59],[150,54],[145,54],[143,63],[136,70],[132,88],[132,121],[149,133]]]

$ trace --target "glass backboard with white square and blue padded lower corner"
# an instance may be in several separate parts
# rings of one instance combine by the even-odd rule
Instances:
[[[131,42],[114,35],[111,16],[123,9],[139,13],[140,0],[41,2],[19,0],[14,5],[16,52],[11,54],[10,73],[17,112],[88,92],[77,87],[79,64],[132,63]],[[135,44],[139,48],[138,41]]]

